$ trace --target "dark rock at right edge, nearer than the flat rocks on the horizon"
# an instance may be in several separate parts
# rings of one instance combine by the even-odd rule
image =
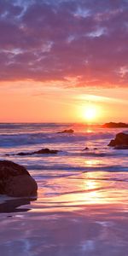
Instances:
[[[108,144],[110,147],[116,147],[117,149],[127,149],[128,147],[128,134],[119,132],[115,139],[111,140]]]

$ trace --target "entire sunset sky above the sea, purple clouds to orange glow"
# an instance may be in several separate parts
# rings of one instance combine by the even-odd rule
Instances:
[[[0,122],[128,122],[127,0],[0,0]]]

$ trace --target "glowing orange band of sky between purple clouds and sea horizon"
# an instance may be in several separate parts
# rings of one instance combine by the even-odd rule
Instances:
[[[66,84],[32,81],[1,83],[0,122],[127,122],[128,89],[68,88]]]

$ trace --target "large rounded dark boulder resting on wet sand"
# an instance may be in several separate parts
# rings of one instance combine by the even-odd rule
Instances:
[[[37,195],[38,185],[26,168],[0,160],[0,194],[23,197]]]

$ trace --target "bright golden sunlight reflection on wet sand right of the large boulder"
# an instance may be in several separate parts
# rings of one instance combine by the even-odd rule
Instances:
[[[115,180],[113,173],[84,172],[70,177],[54,178],[39,190],[38,204],[32,211],[71,212],[88,207],[117,207],[128,210],[126,183]],[[121,173],[120,173],[121,178]]]

